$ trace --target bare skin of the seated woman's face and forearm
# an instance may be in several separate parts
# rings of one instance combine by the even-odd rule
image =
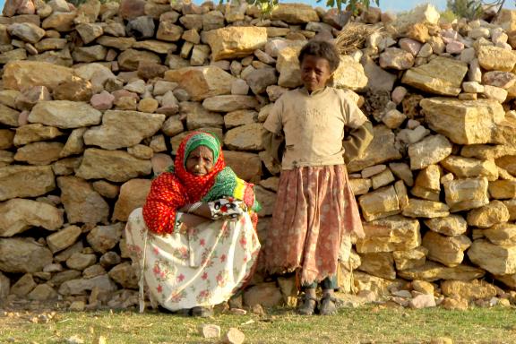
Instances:
[[[192,150],[185,162],[186,171],[194,176],[207,175],[214,165],[213,152],[206,146],[199,146]],[[192,205],[186,204],[179,209],[179,211],[184,212],[181,221],[185,223],[186,227],[195,227],[211,219],[211,211],[208,204],[202,203],[199,208],[188,213]]]

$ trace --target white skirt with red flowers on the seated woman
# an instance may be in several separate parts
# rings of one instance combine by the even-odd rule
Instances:
[[[147,229],[139,208],[131,213],[125,235],[151,299],[170,311],[227,301],[250,278],[260,250],[248,214],[159,236]]]

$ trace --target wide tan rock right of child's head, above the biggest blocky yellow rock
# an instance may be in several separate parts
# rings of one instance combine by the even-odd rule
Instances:
[[[443,96],[457,96],[468,64],[446,57],[436,57],[428,64],[410,68],[401,82],[418,90]]]

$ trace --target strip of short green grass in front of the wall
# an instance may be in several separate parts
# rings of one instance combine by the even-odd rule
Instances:
[[[425,343],[448,337],[454,343],[516,343],[512,308],[409,310],[364,306],[335,316],[298,316],[290,309],[255,314],[217,314],[211,319],[148,312],[61,312],[49,323],[31,323],[38,314],[0,316],[0,343],[59,343],[73,335],[85,343],[102,335],[113,343],[217,343],[203,339],[199,324],[236,327],[246,343]]]

